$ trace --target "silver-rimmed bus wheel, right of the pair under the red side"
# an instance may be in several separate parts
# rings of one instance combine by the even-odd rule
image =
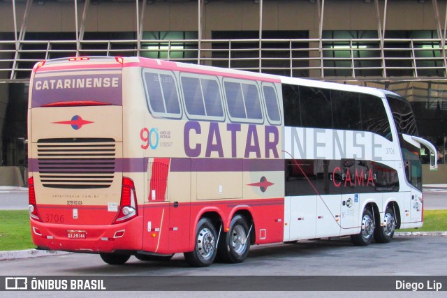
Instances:
[[[219,258],[227,263],[241,263],[250,250],[249,226],[244,216],[236,215],[230,223],[230,230],[223,233],[219,243]]]

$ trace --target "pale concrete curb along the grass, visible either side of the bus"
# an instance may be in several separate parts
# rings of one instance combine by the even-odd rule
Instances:
[[[447,232],[395,232],[394,235],[397,237],[409,237],[409,236],[446,237]],[[27,249],[25,251],[0,251],[0,261],[45,257],[48,255],[67,255],[67,254],[69,254],[69,252],[67,251],[44,251],[38,249]]]

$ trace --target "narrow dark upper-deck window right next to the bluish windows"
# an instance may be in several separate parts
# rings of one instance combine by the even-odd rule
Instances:
[[[282,100],[284,106],[284,125],[301,126],[300,87],[282,84]]]

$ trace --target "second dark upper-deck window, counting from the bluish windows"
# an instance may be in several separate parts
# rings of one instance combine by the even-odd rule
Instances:
[[[303,127],[332,128],[332,107],[328,89],[300,86]]]

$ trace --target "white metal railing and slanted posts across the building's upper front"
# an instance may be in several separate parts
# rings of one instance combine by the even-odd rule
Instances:
[[[80,55],[152,57],[154,52],[156,57],[162,59],[316,79],[343,77],[362,80],[367,77],[369,80],[393,80],[393,77],[405,77],[409,80],[420,80],[426,77],[446,77],[447,6],[446,11],[441,12],[438,0],[431,1],[436,36],[430,38],[386,38],[388,2],[392,0],[374,0],[374,3],[371,3],[375,6],[376,13],[374,38],[325,37],[325,2],[329,0],[309,0],[316,5],[318,38],[265,38],[263,7],[264,1],[268,0],[254,0],[259,11],[258,38],[219,40],[203,38],[204,8],[213,0],[191,0],[197,2],[197,38],[169,40],[144,38],[145,13],[150,9],[149,3],[154,0],[108,0],[135,3],[134,36],[125,40],[84,38],[87,12],[91,5],[98,4],[98,0],[57,0],[73,1],[74,4],[75,38],[67,40],[25,39],[29,13],[32,7],[38,4],[33,0],[3,1],[12,3],[14,22],[14,40],[0,40],[0,77],[7,80],[28,77],[34,63],[43,59]],[[50,0],[36,2],[41,1],[45,3]],[[17,3],[25,5],[23,15],[17,15]],[[444,23],[441,21],[441,15],[444,17]],[[20,18],[22,22],[19,28],[17,21]],[[242,52],[244,54],[240,54]],[[179,53],[182,53],[181,57]]]

